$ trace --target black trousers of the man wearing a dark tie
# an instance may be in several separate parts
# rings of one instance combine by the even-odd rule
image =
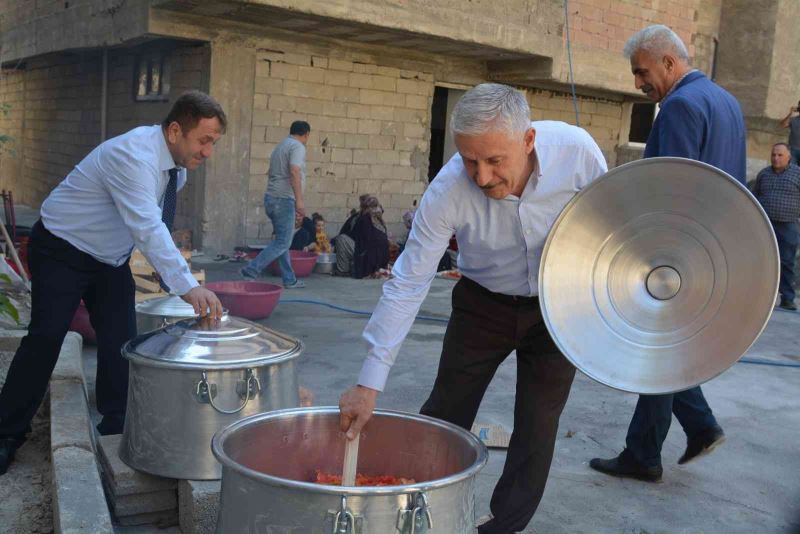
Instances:
[[[38,221],[28,245],[31,269],[31,322],[0,392],[0,437],[30,431],[61,344],[83,299],[97,333],[97,409],[124,420],[128,362],[122,345],[136,336],[135,285],[127,262],[101,263],[60,239]]]

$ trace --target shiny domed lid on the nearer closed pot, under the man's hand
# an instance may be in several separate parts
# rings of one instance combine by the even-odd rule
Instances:
[[[184,319],[128,341],[129,360],[180,369],[240,369],[300,355],[303,344],[257,323],[224,315],[222,319]]]

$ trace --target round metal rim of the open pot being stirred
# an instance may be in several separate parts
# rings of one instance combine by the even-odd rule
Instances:
[[[295,415],[300,414],[338,414],[339,408],[336,406],[315,406],[311,408],[289,408],[284,410],[276,410],[273,412],[261,413],[252,415],[250,417],[246,417],[244,419],[240,419],[236,421],[230,426],[223,428],[222,430],[218,431],[214,434],[214,438],[211,440],[211,450],[214,453],[214,456],[217,458],[220,464],[222,464],[223,468],[232,469],[237,473],[244,475],[250,479],[268,483],[271,486],[279,486],[284,488],[292,488],[292,489],[302,489],[305,491],[311,491],[314,493],[324,493],[324,494],[334,494],[334,495],[347,495],[347,496],[359,496],[359,495],[396,495],[396,494],[406,494],[406,493],[416,493],[420,491],[428,491],[433,489],[439,489],[446,486],[451,486],[453,484],[457,484],[466,480],[472,476],[475,476],[489,460],[489,452],[486,449],[486,446],[483,442],[478,439],[475,435],[471,432],[467,432],[463,428],[456,426],[452,423],[448,423],[447,421],[442,421],[440,419],[434,419],[433,417],[428,417],[426,415],[421,414],[413,414],[408,412],[401,412],[398,410],[375,410],[373,415],[383,415],[388,417],[396,417],[402,419],[413,419],[416,421],[422,421],[428,424],[432,424],[451,432],[455,432],[456,434],[461,435],[473,446],[475,449],[477,458],[475,462],[469,466],[468,468],[460,471],[458,473],[454,473],[448,477],[439,478],[436,480],[428,480],[425,482],[418,482],[416,484],[407,484],[403,486],[359,486],[359,487],[342,487],[342,486],[332,486],[329,484],[317,484],[314,482],[302,482],[299,480],[290,480],[287,478],[276,477],[273,475],[268,475],[266,473],[261,473],[259,471],[255,471],[248,467],[245,467],[237,462],[234,462],[226,453],[223,448],[223,444],[225,440],[234,432],[239,430],[240,428],[247,426],[248,424],[255,422],[255,421],[264,421],[269,419],[282,419],[282,418],[289,418]],[[224,474],[223,474],[224,477]]]

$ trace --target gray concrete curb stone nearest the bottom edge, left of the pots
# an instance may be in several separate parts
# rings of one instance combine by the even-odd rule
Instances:
[[[57,534],[113,534],[94,453],[53,451],[53,519]]]

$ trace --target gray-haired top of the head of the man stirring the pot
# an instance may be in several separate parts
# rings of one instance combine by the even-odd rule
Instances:
[[[481,135],[488,131],[525,133],[531,127],[531,108],[525,96],[507,85],[482,83],[458,100],[450,118],[453,135]]]

